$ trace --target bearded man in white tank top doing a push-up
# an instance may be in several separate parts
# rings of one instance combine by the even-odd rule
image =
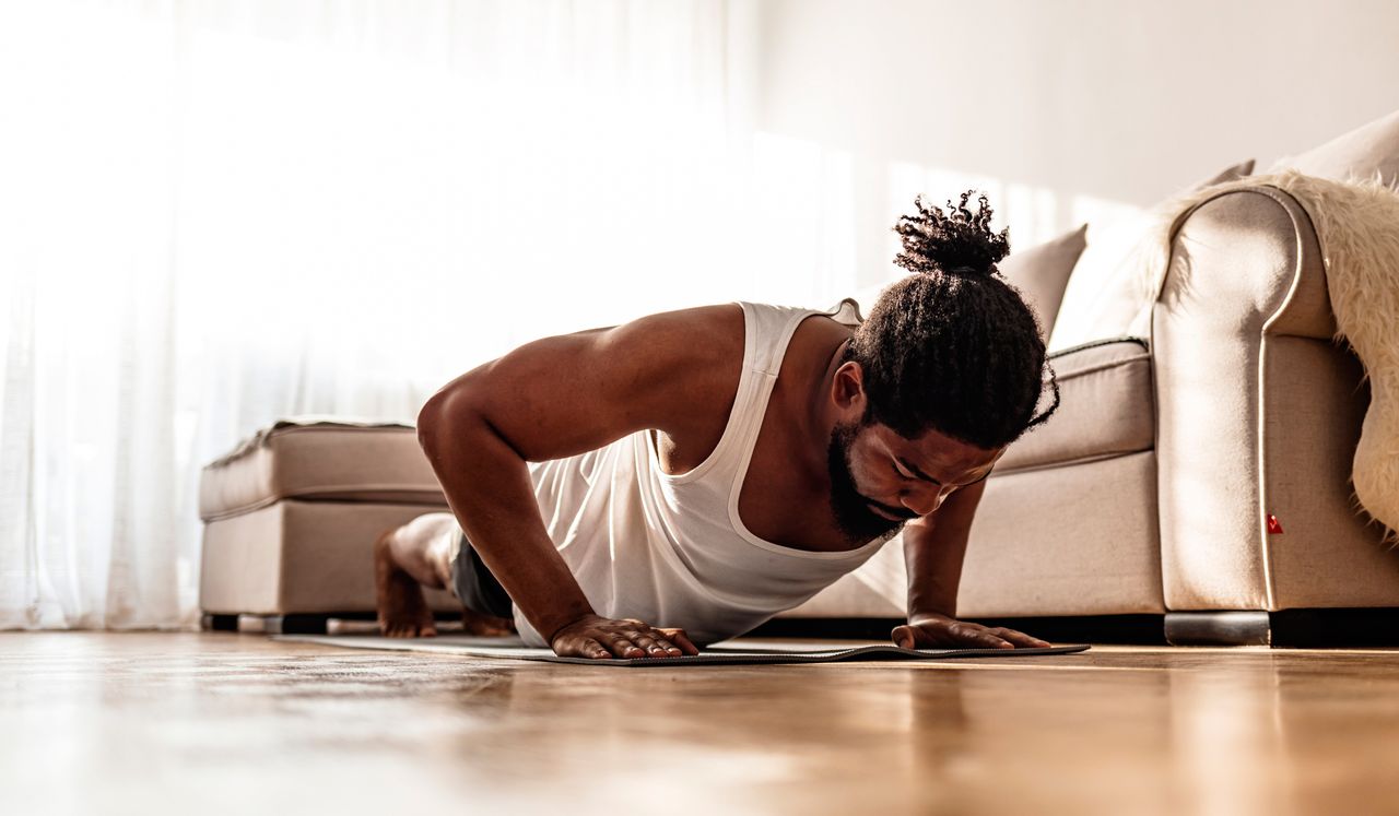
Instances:
[[[452,511],[375,544],[381,629],[435,634],[421,584],[453,591],[469,630],[564,657],[695,654],[902,530],[895,644],[1048,646],[956,619],[985,479],[1058,407],[1035,317],[996,268],[1006,232],[968,198],[900,219],[912,274],[859,327],[704,306],[539,340],[448,383],[418,439]]]

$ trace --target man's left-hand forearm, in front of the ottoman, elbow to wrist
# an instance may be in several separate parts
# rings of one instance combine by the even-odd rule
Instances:
[[[438,428],[420,421],[420,440],[462,531],[546,641],[593,608],[544,528],[529,467],[478,415]]]

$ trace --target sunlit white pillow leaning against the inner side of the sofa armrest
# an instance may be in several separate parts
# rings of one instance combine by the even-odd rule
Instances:
[[[1203,190],[1242,179],[1254,172],[1254,159],[1224,168],[1186,187]],[[1139,257],[1142,242],[1151,235],[1161,212],[1175,207],[1177,196],[1157,207],[1114,224],[1108,229],[1088,225],[1088,246],[1069,277],[1063,300],[1049,334],[1049,351],[1060,351],[1111,337],[1143,337],[1151,328],[1154,289]]]

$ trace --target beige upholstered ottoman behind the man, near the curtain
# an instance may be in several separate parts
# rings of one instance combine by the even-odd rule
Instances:
[[[372,618],[375,538],[446,500],[413,428],[306,416],[208,464],[199,511],[204,626],[235,629],[242,616],[245,627],[315,632],[327,618]],[[446,591],[427,601],[460,612]]]

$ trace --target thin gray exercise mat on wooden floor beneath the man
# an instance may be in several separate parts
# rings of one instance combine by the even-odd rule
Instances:
[[[393,651],[435,651],[470,654],[476,657],[505,657],[547,662],[583,664],[596,666],[680,666],[697,664],[810,664],[839,661],[928,661],[951,657],[1037,657],[1045,654],[1073,654],[1087,651],[1087,646],[1048,646],[1032,648],[901,648],[894,644],[831,647],[817,644],[786,644],[755,641],[754,646],[720,643],[700,650],[698,655],[639,657],[596,660],[586,657],[558,657],[548,648],[525,646],[519,637],[473,637],[469,634],[439,634],[436,637],[382,637],[376,634],[280,634],[273,640],[319,643],[346,648],[379,648]],[[764,646],[758,646],[765,643]]]

